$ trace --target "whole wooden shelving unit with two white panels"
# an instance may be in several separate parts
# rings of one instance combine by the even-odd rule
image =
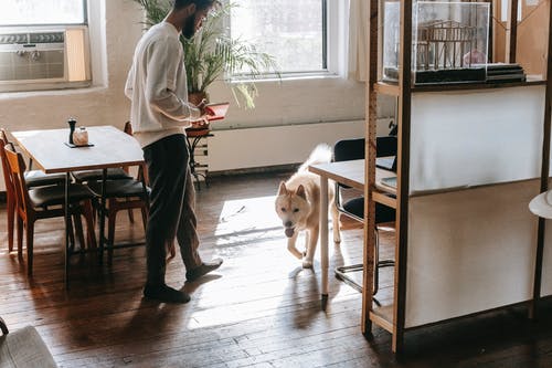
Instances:
[[[410,328],[523,302],[529,302],[530,317],[535,316],[543,290],[542,266],[552,265],[552,256],[543,252],[546,240],[552,243],[552,232],[546,236],[545,221],[532,217],[527,204],[549,188],[552,78],[413,85],[415,1],[397,2],[397,84],[380,80],[382,2],[370,0],[369,6],[362,333],[369,335],[372,324],[384,328],[392,334],[393,351],[401,353]],[[550,1],[548,8],[552,19]],[[506,60],[514,62],[518,0],[510,0],[509,9],[513,11]],[[549,25],[549,34],[551,30]],[[548,54],[552,55],[552,36]],[[551,64],[549,60],[548,76]],[[393,203],[375,187],[379,94],[397,101],[397,196]],[[508,148],[511,154],[502,155]],[[479,158],[482,167],[474,164]],[[383,202],[383,197],[384,204],[396,208],[394,297],[393,304],[376,307],[371,290],[375,244],[371,229],[374,203]],[[552,295],[552,280],[544,286]]]

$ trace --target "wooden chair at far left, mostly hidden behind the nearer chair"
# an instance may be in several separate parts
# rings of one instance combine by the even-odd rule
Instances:
[[[7,204],[7,218],[8,218],[8,251],[13,251],[13,228],[15,219],[15,191],[13,183],[11,182],[11,175],[8,169],[8,159],[4,155],[3,147],[11,144],[8,139],[8,134],[3,128],[0,128],[0,159],[2,161],[2,172],[6,185],[6,204]],[[25,171],[25,182],[26,187],[41,187],[51,186],[65,182],[65,176],[63,174],[46,175],[40,170]]]

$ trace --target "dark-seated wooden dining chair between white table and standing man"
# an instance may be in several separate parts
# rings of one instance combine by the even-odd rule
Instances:
[[[130,122],[127,122],[125,124],[124,130],[125,133],[132,135],[132,127],[130,125]],[[121,210],[128,210],[129,220],[134,222],[132,210],[139,209],[141,212],[141,219],[145,230],[146,223],[148,221],[149,188],[147,187],[148,178],[145,165],[138,166],[138,174],[136,179],[130,176],[129,167],[123,167],[121,170],[126,172],[129,178],[108,178],[105,181],[105,200],[107,206],[105,208],[104,214],[107,218],[108,263],[113,262],[117,213]],[[102,180],[91,180],[86,185],[97,196],[97,198],[102,198],[102,190],[104,186],[104,182]],[[96,204],[97,203],[98,201],[96,201]],[[102,211],[99,211],[99,213],[102,213]]]

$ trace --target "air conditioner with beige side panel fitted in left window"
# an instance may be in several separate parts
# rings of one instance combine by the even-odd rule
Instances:
[[[0,92],[89,85],[86,27],[0,28]]]

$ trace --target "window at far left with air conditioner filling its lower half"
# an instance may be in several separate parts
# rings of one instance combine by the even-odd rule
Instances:
[[[89,85],[86,0],[0,1],[0,91]]]

